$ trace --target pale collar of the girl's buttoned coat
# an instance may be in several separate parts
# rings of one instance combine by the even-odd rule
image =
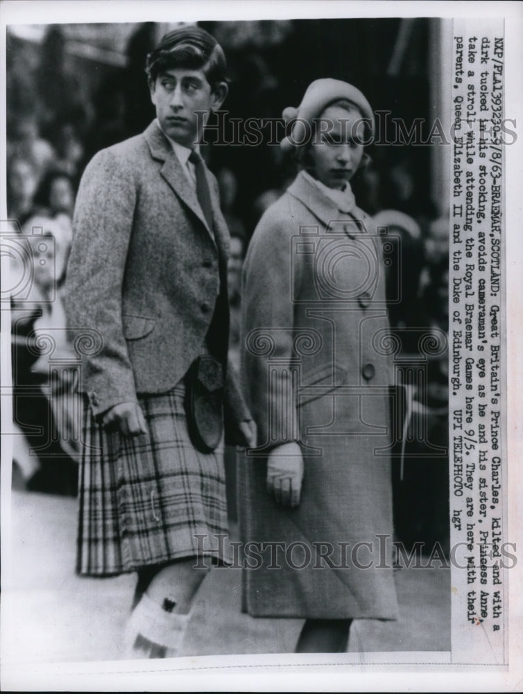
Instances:
[[[325,195],[320,187],[314,185],[313,182],[307,179],[307,176],[300,171],[293,183],[287,189],[287,192],[297,198],[300,203],[305,205],[307,210],[312,212],[327,228],[332,228],[333,221],[341,221],[345,218],[345,233],[350,237],[361,234],[365,231],[361,228],[360,220],[369,220],[366,214],[358,207],[354,207],[350,214],[340,212],[336,207],[336,203]]]

